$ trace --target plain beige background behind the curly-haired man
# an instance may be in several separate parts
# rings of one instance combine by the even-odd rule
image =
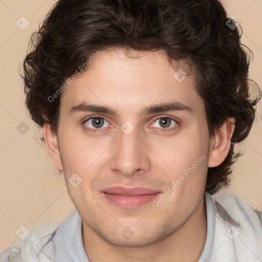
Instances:
[[[21,226],[32,231],[42,225],[60,223],[74,209],[63,176],[58,175],[46,148],[39,141],[41,131],[27,115],[24,86],[18,74],[29,37],[53,3],[55,1],[51,0],[0,0],[0,252],[19,244],[16,231]],[[241,21],[244,30],[242,42],[254,53],[250,78],[262,88],[262,0],[228,0],[223,3],[229,16]],[[25,30],[16,25],[21,16],[30,22]],[[262,102],[257,108],[253,130],[240,146],[245,155],[234,166],[231,188],[253,207],[262,210]],[[29,126],[25,134],[16,129],[22,121]]]

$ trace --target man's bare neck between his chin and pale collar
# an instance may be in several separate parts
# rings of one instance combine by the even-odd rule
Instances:
[[[118,247],[106,242],[83,222],[83,246],[90,262],[197,262],[203,251],[207,231],[204,198],[189,219],[162,241],[141,248]]]

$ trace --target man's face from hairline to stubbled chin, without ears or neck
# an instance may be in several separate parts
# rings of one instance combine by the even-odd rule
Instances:
[[[193,74],[180,82],[173,76],[179,67],[171,67],[163,52],[139,56],[101,52],[62,93],[58,128],[65,183],[83,226],[129,247],[157,243],[187,221],[203,199],[209,149]],[[116,115],[86,111],[84,103],[111,107]],[[145,112],[167,103],[185,108]],[[78,184],[74,175],[76,187],[69,182],[73,174],[82,179]],[[104,191],[113,186],[161,193],[107,198]]]

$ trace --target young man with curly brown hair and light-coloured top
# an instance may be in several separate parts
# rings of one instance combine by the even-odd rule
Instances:
[[[217,0],[61,0],[24,62],[26,104],[76,209],[4,261],[261,261],[261,213],[226,187],[254,121]]]

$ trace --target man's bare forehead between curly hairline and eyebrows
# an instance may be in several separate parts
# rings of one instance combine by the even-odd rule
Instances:
[[[170,64],[164,51],[105,50],[63,91],[61,107],[85,101],[137,113],[150,104],[171,101],[199,107],[202,99],[194,85],[193,69],[186,63]]]

